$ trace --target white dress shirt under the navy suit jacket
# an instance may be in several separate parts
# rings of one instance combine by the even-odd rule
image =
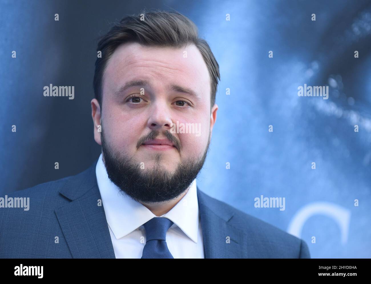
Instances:
[[[141,203],[122,194],[109,180],[102,154],[95,173],[115,257],[141,258],[146,239],[143,224],[156,215]],[[174,258],[204,258],[196,179],[183,198],[161,217],[174,222],[166,233],[167,247]]]

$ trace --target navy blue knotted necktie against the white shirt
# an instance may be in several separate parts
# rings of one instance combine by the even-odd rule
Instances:
[[[165,217],[154,217],[143,224],[146,242],[141,258],[174,258],[166,244],[166,232],[173,221]]]

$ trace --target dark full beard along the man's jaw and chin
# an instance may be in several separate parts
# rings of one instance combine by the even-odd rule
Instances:
[[[108,177],[122,193],[140,203],[167,202],[178,198],[196,179],[209,151],[210,132],[202,157],[178,163],[174,173],[161,163],[165,156],[162,153],[154,154],[155,164],[151,169],[141,169],[138,161],[115,151],[106,142],[103,129],[102,125],[102,153]],[[166,135],[171,134],[168,132]]]

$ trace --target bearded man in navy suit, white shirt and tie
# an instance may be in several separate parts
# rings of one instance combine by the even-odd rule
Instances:
[[[30,206],[1,208],[1,257],[310,257],[303,240],[196,185],[220,75],[193,22],[175,12],[128,16],[97,52],[91,107],[102,153],[76,176],[9,195]]]

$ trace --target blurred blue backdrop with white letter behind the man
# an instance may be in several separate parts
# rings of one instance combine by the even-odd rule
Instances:
[[[97,39],[143,8],[193,20],[220,66],[200,189],[303,238],[312,258],[370,258],[370,1],[1,1],[0,196],[98,158]],[[75,99],[44,97],[49,84],[75,86]],[[304,84],[328,85],[329,99],[298,97]],[[260,195],[285,210],[255,208]]]

